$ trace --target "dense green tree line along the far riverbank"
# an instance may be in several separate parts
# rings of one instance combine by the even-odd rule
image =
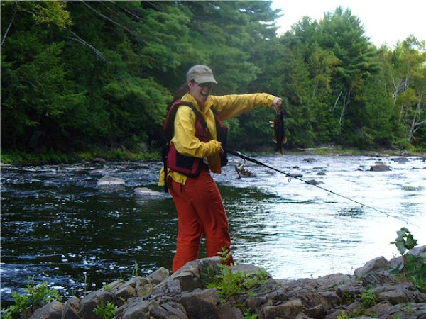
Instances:
[[[155,150],[173,91],[209,65],[214,94],[284,99],[288,148],[426,149],[426,48],[376,47],[341,7],[278,36],[271,1],[1,1],[1,148]],[[273,112],[226,121],[271,145]]]

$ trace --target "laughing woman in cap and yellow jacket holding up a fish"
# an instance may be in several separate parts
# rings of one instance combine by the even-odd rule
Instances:
[[[224,150],[218,135],[226,133],[221,120],[256,106],[273,106],[278,111],[282,103],[282,99],[266,93],[211,96],[213,84],[217,82],[209,67],[191,67],[182,86],[185,94],[175,94],[175,100],[180,101],[173,104],[168,114],[169,119],[173,110],[174,118],[171,116],[169,122],[173,123],[170,124],[173,138],[167,167],[160,172],[159,185],[164,184],[166,170],[168,189],[178,211],[178,243],[173,272],[198,258],[202,234],[206,239],[208,257],[229,250],[231,245],[222,197],[210,176],[210,171],[221,172]],[[234,264],[231,254],[226,264]]]

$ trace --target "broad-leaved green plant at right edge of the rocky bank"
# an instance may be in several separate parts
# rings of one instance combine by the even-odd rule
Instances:
[[[410,230],[403,227],[397,232],[398,237],[391,244],[396,245],[398,251],[403,257],[403,263],[399,267],[393,269],[394,273],[402,273],[405,278],[410,279],[413,284],[422,293],[426,293],[426,252],[415,256],[408,254],[408,250],[413,249],[417,245]]]

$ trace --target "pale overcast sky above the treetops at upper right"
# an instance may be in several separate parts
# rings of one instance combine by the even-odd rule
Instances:
[[[384,43],[394,47],[410,34],[426,40],[425,0],[273,0],[272,4],[283,14],[277,21],[279,34],[290,30],[302,16],[320,21],[324,12],[334,12],[338,6],[351,9],[352,15],[361,20],[365,35],[377,47]]]

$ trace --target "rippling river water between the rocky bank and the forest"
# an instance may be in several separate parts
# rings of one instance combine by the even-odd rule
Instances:
[[[308,158],[309,157],[309,158]],[[406,227],[426,245],[426,162],[420,157],[268,155],[256,160],[354,199],[266,167],[236,179],[230,164],[214,179],[224,198],[234,259],[275,279],[353,274],[369,260],[398,255]],[[391,167],[371,172],[376,162]],[[65,296],[81,296],[133,274],[170,269],[177,216],[170,197],[142,201],[136,187],[156,186],[160,162],[107,162],[1,170],[1,301],[29,277]],[[105,175],[125,186],[99,187]],[[367,207],[370,206],[370,207]],[[375,208],[375,209],[373,209]],[[205,249],[202,245],[201,256]]]

